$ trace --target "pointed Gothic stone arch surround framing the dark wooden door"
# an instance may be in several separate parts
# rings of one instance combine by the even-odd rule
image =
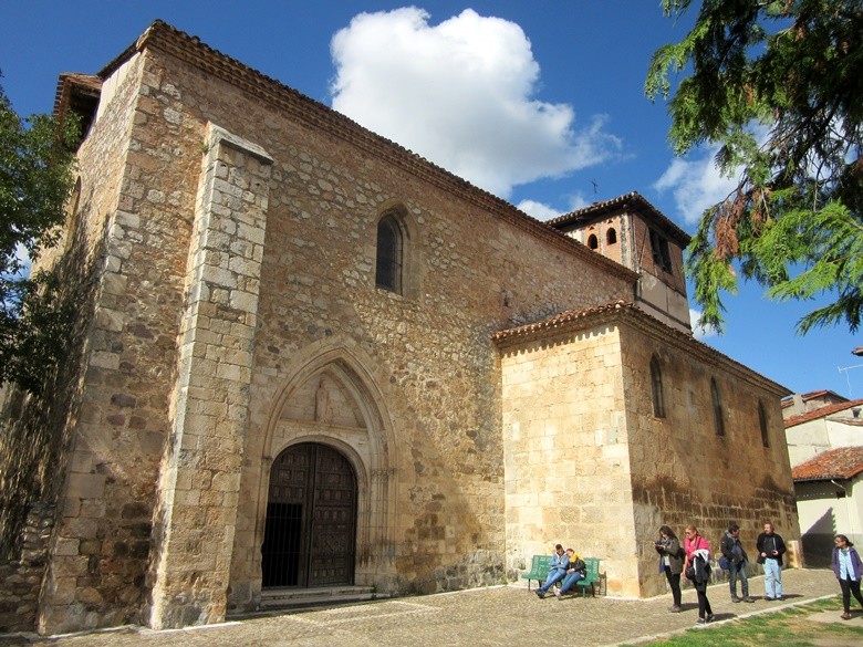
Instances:
[[[316,352],[315,352],[316,351]],[[292,378],[273,401],[266,429],[261,456],[261,482],[258,493],[254,545],[261,549],[264,539],[272,545],[272,534],[267,532],[268,507],[271,502],[273,466],[282,457],[303,453],[305,449],[330,455],[331,462],[337,462],[333,453],[343,460],[355,478],[354,563],[349,576],[357,585],[375,585],[384,591],[395,577],[395,443],[389,416],[378,392],[368,358],[361,361],[356,353],[344,347],[310,348],[305,357],[294,363]],[[289,453],[284,453],[288,451]],[[295,457],[294,457],[295,458]],[[341,469],[341,468],[340,468]],[[346,480],[343,471],[333,479]],[[283,477],[282,477],[283,478]],[[301,478],[301,477],[298,477]],[[311,482],[311,481],[310,481]],[[314,486],[313,486],[314,487]],[[318,490],[316,494],[332,497],[332,491]],[[298,494],[299,495],[299,494]],[[337,495],[347,497],[346,492]],[[272,512],[272,508],[270,507]],[[346,514],[345,510],[339,514]],[[297,523],[302,523],[302,520]],[[273,531],[271,520],[270,532]],[[304,535],[300,541],[309,542]],[[314,541],[314,538],[311,538]],[[270,547],[268,545],[268,550]],[[263,568],[264,557],[256,551],[258,566]],[[267,556],[270,560],[271,555]],[[272,573],[261,585],[326,585],[327,582],[303,577],[298,572],[295,584],[277,584]]]

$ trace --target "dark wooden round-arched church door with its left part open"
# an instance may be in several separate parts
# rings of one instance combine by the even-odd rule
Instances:
[[[263,587],[353,584],[356,476],[316,442],[282,451],[270,469],[261,546]]]

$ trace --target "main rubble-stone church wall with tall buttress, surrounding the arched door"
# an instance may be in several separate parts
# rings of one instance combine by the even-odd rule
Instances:
[[[269,465],[302,439],[364,483],[357,581],[502,582],[490,334],[625,296],[632,274],[272,82],[250,92],[245,72],[228,83],[158,46],[115,73],[82,157],[104,263],[40,630],[216,622],[229,595],[253,607]],[[233,160],[195,229],[212,126],[273,160],[257,232],[231,213],[249,191]],[[404,294],[375,288],[389,209],[409,232]],[[283,422],[324,375],[352,385],[365,437]]]

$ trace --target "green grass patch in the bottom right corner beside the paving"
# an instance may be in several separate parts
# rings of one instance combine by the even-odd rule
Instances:
[[[809,619],[815,613],[836,614],[835,624]],[[863,627],[839,619],[842,603],[839,597],[786,611],[761,614],[721,626],[688,629],[664,640],[641,643],[638,647],[853,647],[863,645]],[[632,646],[631,646],[632,647]]]

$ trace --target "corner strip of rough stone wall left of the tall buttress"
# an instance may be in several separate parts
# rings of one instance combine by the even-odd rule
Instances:
[[[144,56],[122,76],[80,150],[79,221],[98,271],[42,593],[39,629],[49,634],[141,620],[167,438],[195,188],[171,184],[165,169],[189,163],[147,132],[171,107],[149,95]],[[153,186],[156,175],[165,179]]]

